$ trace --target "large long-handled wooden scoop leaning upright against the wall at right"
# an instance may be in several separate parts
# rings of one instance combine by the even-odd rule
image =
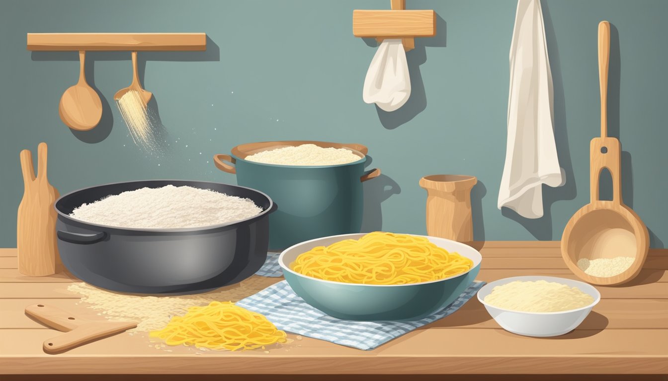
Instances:
[[[561,255],[576,276],[591,284],[613,285],[629,282],[643,268],[649,250],[647,227],[622,201],[621,144],[608,137],[607,92],[610,57],[610,24],[599,24],[599,81],[601,85],[601,137],[590,145],[591,202],[566,224],[561,238]],[[613,200],[599,200],[599,177],[607,168],[613,178]],[[631,267],[608,278],[591,276],[580,270],[578,260],[615,257],[635,258]]]

